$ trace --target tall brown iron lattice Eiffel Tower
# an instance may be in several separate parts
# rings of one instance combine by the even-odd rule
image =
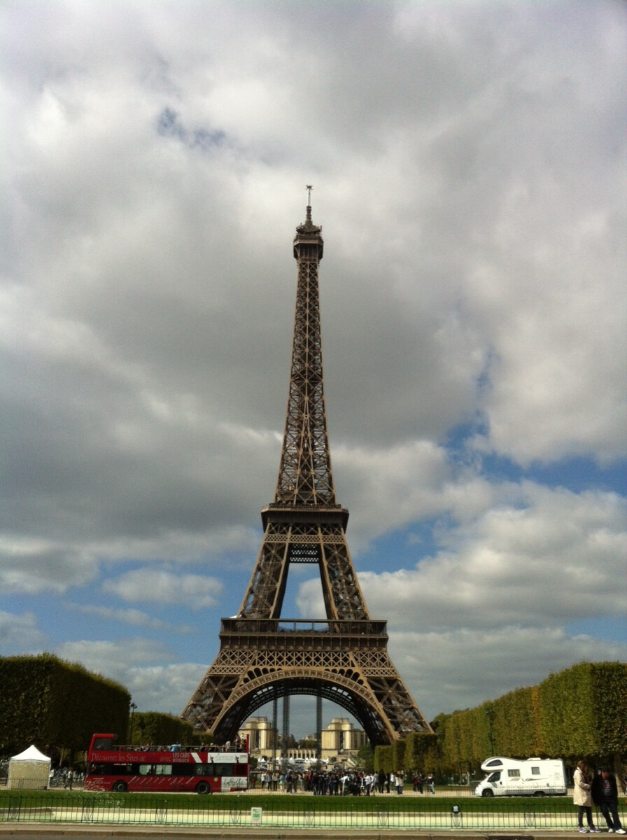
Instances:
[[[318,264],[321,227],[296,228],[298,264],[290,392],[274,501],[237,617],[222,618],[220,651],[181,717],[217,743],[266,703],[294,695],[342,706],[371,744],[431,727],[387,652],[386,622],[368,615],[348,551],[348,511],[337,504],[322,380]],[[326,619],[281,619],[292,563],[317,565]]]

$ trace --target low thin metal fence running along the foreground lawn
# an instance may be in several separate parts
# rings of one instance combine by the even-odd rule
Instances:
[[[520,807],[517,807],[519,805]],[[621,802],[622,806],[622,802]],[[514,809],[514,810],[513,810]],[[623,815],[624,816],[624,815]],[[441,829],[465,828],[479,831],[576,830],[577,809],[572,802],[551,801],[551,810],[541,801],[513,804],[511,800],[489,800],[464,807],[464,801],[451,804],[434,797],[421,806],[405,803],[402,809],[385,797],[373,797],[368,804],[347,798],[331,809],[324,799],[285,797],[264,800],[254,806],[251,797],[233,795],[226,805],[212,796],[190,796],[189,804],[177,797],[169,803],[149,794],[72,795],[62,799],[44,794],[19,792],[3,795],[0,822],[78,823],[107,825],[154,825],[196,827],[280,827],[323,829]],[[603,825],[603,821],[598,823]]]

